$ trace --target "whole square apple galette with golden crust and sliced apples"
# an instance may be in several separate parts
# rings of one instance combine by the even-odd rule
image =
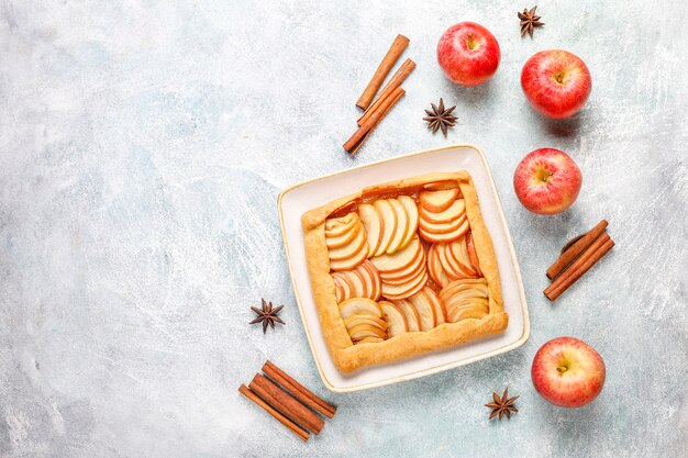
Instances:
[[[335,366],[365,366],[503,332],[499,270],[466,171],[364,189],[301,217]]]

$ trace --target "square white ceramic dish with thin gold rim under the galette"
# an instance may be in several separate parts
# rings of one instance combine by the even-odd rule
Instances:
[[[485,224],[492,236],[509,327],[503,334],[469,342],[354,373],[337,371],[320,328],[306,265],[301,215],[331,200],[385,181],[435,171],[467,170],[475,182]],[[489,358],[523,345],[530,335],[528,305],[511,236],[485,155],[475,145],[453,145],[397,156],[339,171],[285,189],[278,199],[279,219],[291,281],[315,365],[325,386],[336,392],[381,387],[441,372]]]

